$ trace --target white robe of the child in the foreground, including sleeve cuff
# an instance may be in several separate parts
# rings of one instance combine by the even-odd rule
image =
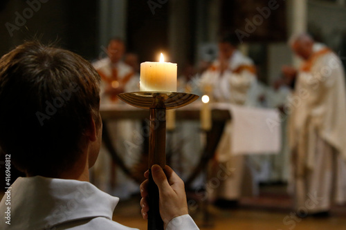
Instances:
[[[6,202],[7,197],[10,204]],[[89,182],[42,176],[17,178],[0,202],[1,215],[7,215],[10,220],[8,224],[6,218],[1,218],[0,229],[130,230],[112,220],[118,202],[119,198]],[[197,230],[198,227],[190,215],[181,215],[171,220],[166,229]]]

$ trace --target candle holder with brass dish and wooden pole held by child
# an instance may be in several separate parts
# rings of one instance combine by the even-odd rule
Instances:
[[[133,92],[120,93],[118,97],[127,104],[149,109],[149,187],[148,187],[148,230],[163,230],[159,210],[158,187],[152,178],[152,166],[166,164],[166,110],[180,108],[194,102],[199,96],[176,92]]]

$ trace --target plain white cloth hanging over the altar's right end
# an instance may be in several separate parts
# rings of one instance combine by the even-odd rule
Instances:
[[[280,114],[276,109],[221,103],[214,104],[212,108],[230,111],[232,119],[226,126],[230,132],[224,133],[232,133],[232,135],[224,135],[221,142],[228,142],[231,153],[234,155],[280,151],[281,124]],[[219,155],[219,157],[225,156]]]

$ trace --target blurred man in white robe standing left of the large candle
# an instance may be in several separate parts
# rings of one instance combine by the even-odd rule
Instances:
[[[101,106],[122,104],[116,95],[139,90],[139,76],[136,70],[122,61],[124,53],[124,42],[119,38],[112,38],[107,46],[108,57],[93,63],[93,67],[101,77]],[[140,122],[124,119],[108,121],[105,125],[117,153],[122,156],[125,164],[133,165],[142,150],[141,143],[136,143],[134,138],[138,134],[136,131],[140,131]],[[131,192],[134,192],[136,186],[129,183],[120,169],[116,169],[111,155],[103,144],[93,168],[93,183],[103,191],[120,198],[127,198]]]

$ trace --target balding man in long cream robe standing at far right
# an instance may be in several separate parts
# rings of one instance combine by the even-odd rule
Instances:
[[[304,62],[290,104],[289,140],[298,215],[328,215],[346,201],[346,90],[339,57],[306,34],[291,48]],[[302,211],[302,209],[304,210]]]

